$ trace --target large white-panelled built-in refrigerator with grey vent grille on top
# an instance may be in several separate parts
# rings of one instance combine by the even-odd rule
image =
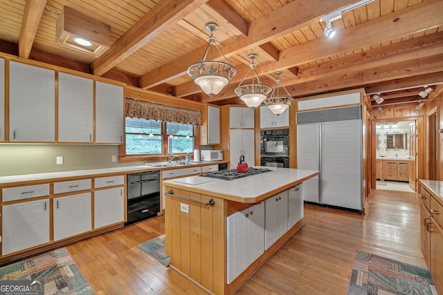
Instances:
[[[299,169],[320,170],[303,184],[303,199],[363,212],[360,106],[297,113]]]

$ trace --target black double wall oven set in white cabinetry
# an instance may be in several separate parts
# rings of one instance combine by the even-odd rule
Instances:
[[[261,166],[289,168],[289,129],[260,131]]]

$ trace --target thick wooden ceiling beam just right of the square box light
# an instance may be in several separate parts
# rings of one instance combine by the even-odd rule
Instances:
[[[94,75],[101,76],[174,26],[208,0],[162,0],[120,37],[111,48],[92,62]]]

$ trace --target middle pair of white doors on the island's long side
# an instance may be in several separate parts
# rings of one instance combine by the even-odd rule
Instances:
[[[267,250],[288,231],[288,191],[266,199],[264,208],[264,249]]]

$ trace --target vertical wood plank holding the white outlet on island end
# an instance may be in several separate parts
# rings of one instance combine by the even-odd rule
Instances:
[[[181,197],[190,198],[189,191],[181,190]],[[180,210],[180,258],[181,258],[181,272],[186,274],[186,276],[191,276],[191,240],[190,240],[190,203],[187,200],[179,200],[179,205],[181,204],[188,206],[188,212],[183,212]]]

